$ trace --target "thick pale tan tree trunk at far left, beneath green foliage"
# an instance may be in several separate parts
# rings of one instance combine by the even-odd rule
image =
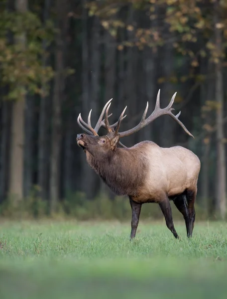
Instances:
[[[18,12],[27,11],[27,0],[16,0]],[[26,43],[25,33],[16,38],[18,45],[23,48]],[[25,97],[15,101],[12,106],[9,195],[21,200],[23,197],[23,167],[24,167],[24,108]]]

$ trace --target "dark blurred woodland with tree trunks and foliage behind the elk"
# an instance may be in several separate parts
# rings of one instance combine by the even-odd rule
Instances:
[[[112,123],[128,107],[124,131],[159,88],[161,107],[177,91],[195,140],[163,116],[122,143],[193,150],[197,215],[224,219],[227,0],[0,0],[0,214],[130,215],[87,165],[77,117],[93,109],[95,124],[113,98]],[[154,204],[143,209],[155,216]]]

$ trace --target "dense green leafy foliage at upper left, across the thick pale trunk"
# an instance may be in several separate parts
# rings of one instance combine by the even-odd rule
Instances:
[[[42,57],[47,55],[42,41],[48,45],[53,34],[52,23],[48,21],[44,27],[38,16],[30,11],[0,12],[0,76],[1,84],[9,89],[7,99],[20,100],[27,92],[47,91],[53,70],[42,65]]]

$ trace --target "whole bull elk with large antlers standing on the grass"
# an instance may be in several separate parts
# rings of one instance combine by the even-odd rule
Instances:
[[[148,202],[159,204],[168,229],[178,239],[173,224],[170,200],[173,200],[185,219],[187,237],[192,237],[195,222],[194,203],[201,166],[197,155],[181,146],[161,148],[154,142],[143,141],[127,148],[119,141],[120,138],[139,131],[162,115],[171,116],[188,135],[193,137],[179,120],[180,112],[176,116],[172,113],[175,96],[176,93],[169,105],[161,109],[159,90],[152,114],[146,118],[147,102],[139,124],[121,133],[119,127],[126,117],[124,112],[127,106],[118,121],[110,125],[109,117],[112,114],[108,114],[112,99],[104,106],[94,129],[91,125],[92,110],[87,123],[83,121],[81,114],[77,119],[79,126],[87,133],[77,135],[77,144],[84,149],[87,162],[115,194],[129,197],[132,211],[130,239],[135,237],[141,206]],[[107,130],[107,135],[98,135],[101,127]]]

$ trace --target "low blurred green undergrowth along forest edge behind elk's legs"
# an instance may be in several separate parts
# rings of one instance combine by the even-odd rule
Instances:
[[[6,219],[42,219],[49,218],[48,201],[42,200],[37,195],[35,187],[31,194],[22,201],[9,197],[0,205],[0,215]],[[172,212],[175,221],[182,220],[181,213],[173,202]],[[105,194],[101,194],[93,200],[86,199],[84,193],[69,193],[66,198],[58,203],[57,212],[51,216],[56,219],[77,220],[119,220],[131,221],[131,207],[127,197],[116,196],[111,200]],[[199,220],[207,219],[203,209],[196,205],[196,217]],[[142,206],[141,220],[163,219],[163,214],[158,204],[147,203]]]

